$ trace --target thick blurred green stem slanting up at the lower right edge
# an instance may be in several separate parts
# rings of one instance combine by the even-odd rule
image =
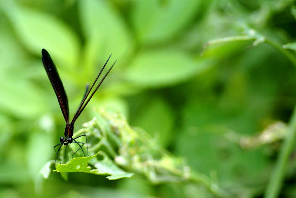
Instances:
[[[265,191],[266,198],[276,198],[279,195],[281,186],[286,174],[287,162],[294,148],[296,140],[296,106],[289,122],[287,137],[279,153],[274,172]]]

